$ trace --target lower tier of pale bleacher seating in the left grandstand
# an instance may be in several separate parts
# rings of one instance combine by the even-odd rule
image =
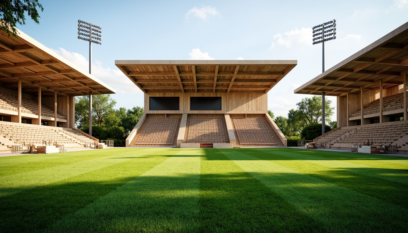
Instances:
[[[95,140],[87,138],[82,133],[74,130],[66,130],[58,127],[44,127],[32,124],[0,124],[0,135],[16,144],[64,144],[65,148],[84,147],[85,144],[94,143]],[[75,137],[73,137],[75,134]],[[80,136],[79,134],[82,134]]]

